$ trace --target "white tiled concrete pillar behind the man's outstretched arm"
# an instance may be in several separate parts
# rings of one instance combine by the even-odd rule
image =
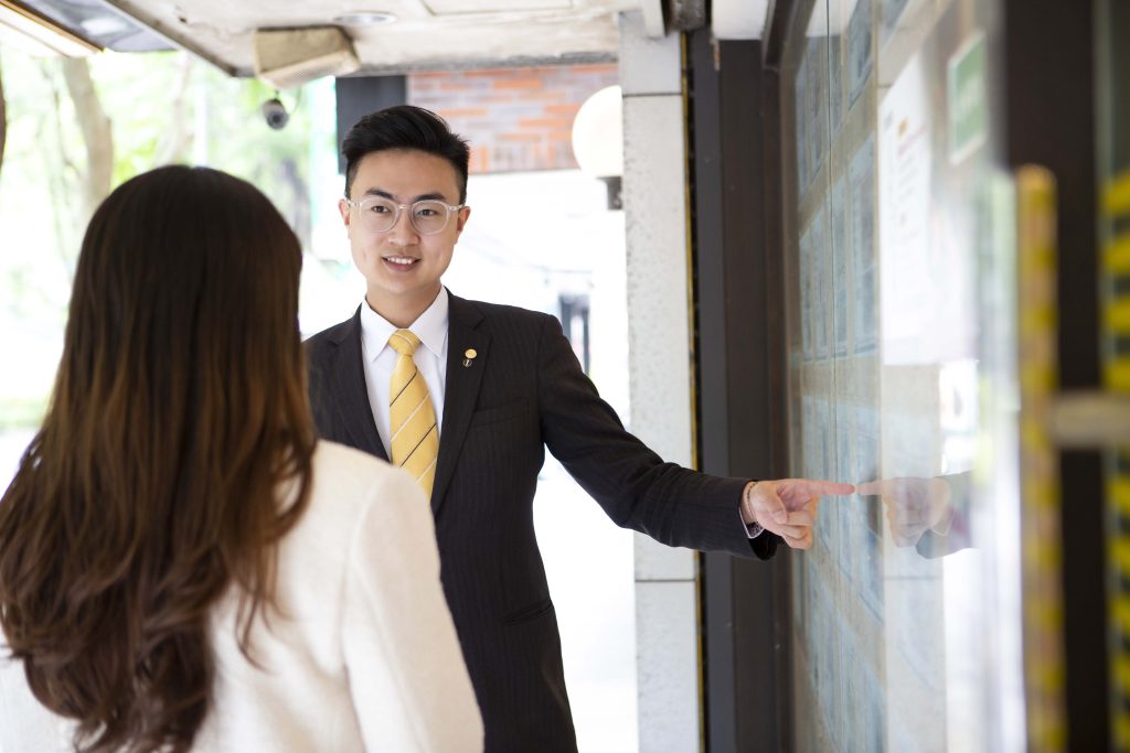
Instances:
[[[690,465],[692,343],[686,129],[679,36],[620,16],[631,429]],[[695,555],[636,535],[640,750],[699,750]]]

